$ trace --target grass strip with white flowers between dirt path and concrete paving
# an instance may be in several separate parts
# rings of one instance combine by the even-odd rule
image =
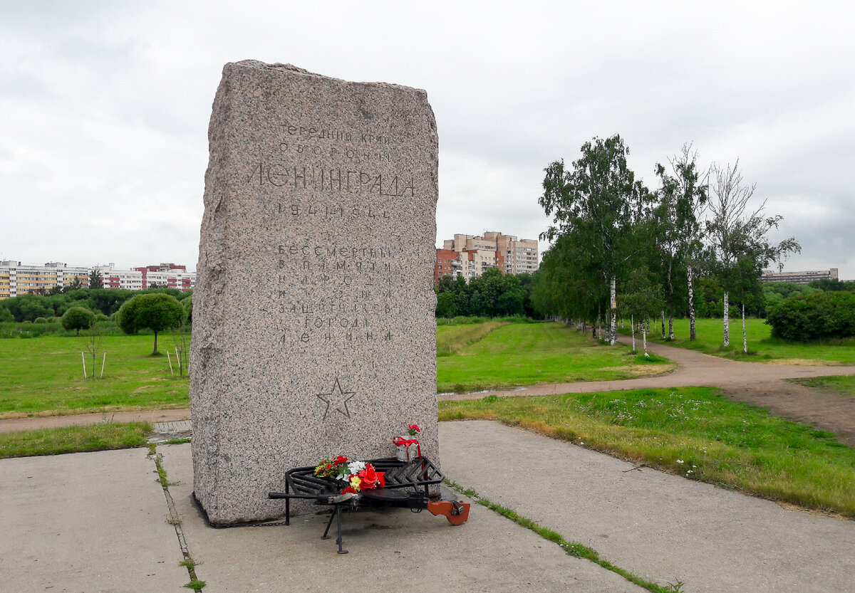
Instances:
[[[439,419],[500,420],[688,479],[855,517],[855,449],[711,388],[439,402]]]

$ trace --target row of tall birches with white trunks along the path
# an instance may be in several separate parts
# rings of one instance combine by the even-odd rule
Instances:
[[[540,205],[553,220],[541,239],[552,245],[534,282],[534,308],[605,321],[610,343],[619,313],[661,314],[671,338],[673,317],[686,314],[694,339],[695,291],[708,278],[722,288],[728,346],[731,299],[743,312],[762,303],[760,273],[799,244],[769,241],[781,216],[765,215],[765,202],[750,208],[755,186],[744,183],[739,161],[703,169],[697,152],[684,146],[669,166],[657,163],[659,187],[652,191],[629,169],[628,153],[619,135],[593,138],[572,167],[555,161],[545,168]]]

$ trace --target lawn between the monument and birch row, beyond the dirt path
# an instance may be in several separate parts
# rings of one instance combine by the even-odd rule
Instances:
[[[492,327],[489,332],[484,326],[439,327],[440,393],[628,379],[674,368],[669,361],[633,355],[621,344],[598,343],[562,323],[511,323]],[[479,339],[469,339],[473,334]]]

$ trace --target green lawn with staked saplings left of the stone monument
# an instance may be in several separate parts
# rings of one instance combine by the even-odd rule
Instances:
[[[0,339],[0,419],[190,405],[186,375],[176,367],[173,377],[166,355],[151,356],[153,336],[106,336],[103,379],[83,378],[84,339]],[[158,342],[162,353],[174,348],[168,335]],[[91,374],[91,360],[87,366]]]

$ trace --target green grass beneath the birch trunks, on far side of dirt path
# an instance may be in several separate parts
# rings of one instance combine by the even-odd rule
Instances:
[[[811,364],[811,365],[855,365],[855,339],[836,340],[826,343],[790,343],[777,338],[771,338],[771,327],[765,320],[746,320],[748,338],[748,355],[742,352],[742,320],[730,320],[730,347],[722,347],[722,320],[699,319],[695,324],[698,338],[689,340],[689,320],[674,320],[675,341],[662,339],[661,320],[656,324],[651,322],[651,332],[647,334],[648,341],[667,343],[698,350],[705,354],[724,356],[734,360],[749,362],[772,362],[777,364]],[[666,335],[668,330],[666,320]],[[621,330],[629,334],[628,327]],[[640,339],[638,333],[636,340]]]

